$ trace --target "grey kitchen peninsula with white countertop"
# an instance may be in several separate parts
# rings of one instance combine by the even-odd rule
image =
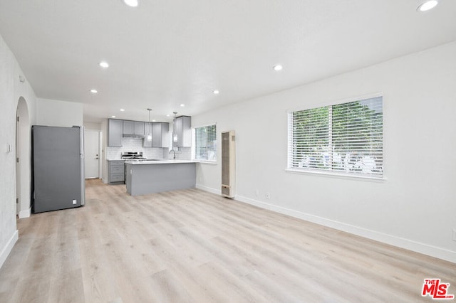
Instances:
[[[195,188],[196,164],[191,160],[125,161],[127,193],[137,196]]]

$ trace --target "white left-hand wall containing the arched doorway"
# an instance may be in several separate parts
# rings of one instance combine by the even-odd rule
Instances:
[[[24,83],[19,81],[24,78]],[[11,50],[0,36],[0,266],[6,260],[18,238],[16,230],[16,109],[20,98],[24,98],[30,124],[35,123],[36,95],[28,84],[24,73]],[[30,132],[25,133],[21,149],[30,152]],[[27,140],[28,139],[28,140]],[[6,152],[11,146],[11,152]],[[30,167],[30,157],[22,159],[22,167]],[[25,190],[30,186],[30,175],[21,184]],[[24,189],[24,188],[23,188]],[[29,192],[28,192],[29,193]]]

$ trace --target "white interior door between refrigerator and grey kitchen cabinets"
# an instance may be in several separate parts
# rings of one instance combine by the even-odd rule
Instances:
[[[84,168],[86,179],[99,178],[99,146],[100,132],[91,129],[84,129]]]

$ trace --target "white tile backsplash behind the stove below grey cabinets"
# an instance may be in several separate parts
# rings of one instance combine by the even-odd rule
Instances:
[[[172,159],[172,153],[168,148],[142,147],[142,138],[123,137],[122,147],[106,147],[106,159],[117,160],[123,151],[142,151],[142,156],[147,159]],[[176,151],[176,159],[190,160],[192,157],[191,147],[181,147]]]

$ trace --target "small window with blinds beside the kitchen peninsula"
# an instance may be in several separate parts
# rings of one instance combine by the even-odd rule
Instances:
[[[195,128],[195,159],[217,161],[217,125]]]

